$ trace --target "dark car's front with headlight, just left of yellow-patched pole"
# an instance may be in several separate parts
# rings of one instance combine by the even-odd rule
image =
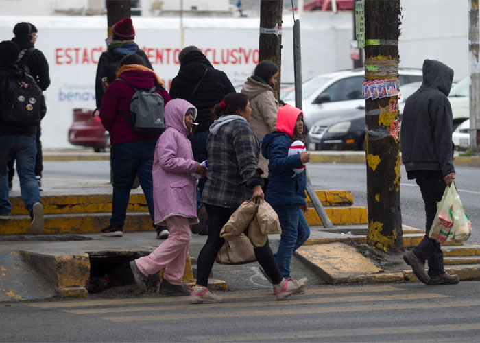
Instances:
[[[365,110],[317,121],[308,135],[310,150],[365,150]]]

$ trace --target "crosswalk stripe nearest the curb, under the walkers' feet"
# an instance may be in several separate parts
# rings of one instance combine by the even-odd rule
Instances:
[[[368,292],[396,292],[404,291],[404,288],[381,286],[349,286],[349,287],[328,287],[324,289],[307,289],[305,294],[346,294],[346,293],[368,293]],[[272,293],[248,293],[248,294],[228,294],[225,299],[243,299],[243,298],[265,298],[272,296]],[[79,300],[64,301],[58,303],[32,303],[29,306],[40,307],[43,309],[55,309],[62,307],[87,307],[87,306],[108,306],[108,305],[136,305],[152,303],[184,303],[185,298],[155,297],[155,298],[134,298],[134,299],[107,299],[107,300]]]

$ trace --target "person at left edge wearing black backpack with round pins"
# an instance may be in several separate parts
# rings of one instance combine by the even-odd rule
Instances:
[[[5,40],[0,43],[0,225],[10,219],[8,161],[16,160],[21,196],[34,234],[43,230],[43,205],[35,178],[36,130],[45,116],[41,89],[25,69],[16,65],[20,48]]]

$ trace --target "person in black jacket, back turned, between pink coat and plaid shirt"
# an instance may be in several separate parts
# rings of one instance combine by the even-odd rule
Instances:
[[[212,108],[221,102],[225,95],[234,93],[235,88],[228,76],[223,71],[213,68],[202,51],[190,45],[184,47],[180,54],[180,70],[178,75],[171,81],[170,96],[172,99],[185,99],[197,108],[198,125],[195,127],[195,135],[191,138],[193,158],[202,163],[206,160],[206,139],[208,128],[213,123]],[[193,233],[208,235],[206,224],[206,211],[201,206],[200,196],[205,185],[205,178],[198,182],[197,202],[198,217],[200,222],[192,226]]]

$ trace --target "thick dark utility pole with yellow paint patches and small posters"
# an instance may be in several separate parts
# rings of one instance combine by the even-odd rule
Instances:
[[[379,81],[369,88],[382,93],[365,100],[367,241],[387,253],[403,250],[398,94],[391,88],[398,86],[400,18],[400,0],[365,0],[365,82]]]

